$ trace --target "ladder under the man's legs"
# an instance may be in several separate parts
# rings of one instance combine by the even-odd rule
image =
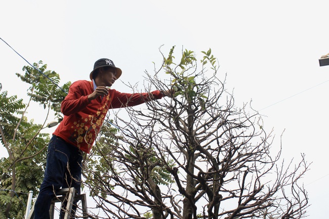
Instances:
[[[57,190],[56,197],[53,198],[52,203],[50,205],[50,210],[49,210],[50,218],[54,219],[55,203],[61,202],[63,204],[63,202],[67,202],[64,219],[70,219],[73,201],[77,202],[79,200],[81,200],[81,204],[82,204],[83,218],[88,218],[86,194],[77,195],[76,190],[73,187]],[[30,213],[28,214],[27,219],[33,219],[33,218],[34,218],[34,204],[30,210]]]

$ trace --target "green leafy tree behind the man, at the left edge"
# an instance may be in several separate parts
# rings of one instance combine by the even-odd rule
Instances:
[[[37,194],[36,188],[43,180],[45,148],[50,140],[49,134],[40,133],[40,130],[45,126],[50,112],[54,112],[59,121],[62,120],[60,103],[70,85],[67,82],[59,88],[56,85],[59,75],[47,70],[47,65],[42,61],[33,66],[24,66],[25,74],[16,73],[22,81],[30,84],[27,104],[16,95],[8,97],[7,91],[0,93],[1,143],[8,152],[8,157],[0,160],[1,218],[23,218],[28,192]],[[35,124],[33,119],[27,119],[26,113],[33,102],[43,106],[46,112],[44,124]]]

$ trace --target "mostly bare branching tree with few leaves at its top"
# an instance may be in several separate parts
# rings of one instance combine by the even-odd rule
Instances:
[[[297,164],[280,162],[281,145],[270,152],[272,130],[257,111],[235,106],[217,59],[211,50],[202,54],[198,62],[183,50],[177,61],[173,47],[155,74],[146,73],[150,87],[173,88],[175,98],[128,108],[129,119],[113,117],[122,136],[108,134],[99,145],[102,165],[85,169],[102,211],[93,217],[305,216],[304,155]]]

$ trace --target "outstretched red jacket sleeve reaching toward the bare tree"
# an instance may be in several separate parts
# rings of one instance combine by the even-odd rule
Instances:
[[[112,103],[111,108],[122,108],[128,106],[137,106],[139,104],[161,99],[163,96],[160,91],[153,91],[149,93],[120,93],[114,89],[111,90]]]

